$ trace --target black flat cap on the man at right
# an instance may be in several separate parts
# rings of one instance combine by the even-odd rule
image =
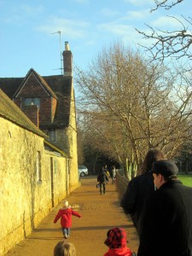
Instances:
[[[154,162],[152,172],[164,177],[176,177],[178,168],[171,160],[159,160]]]

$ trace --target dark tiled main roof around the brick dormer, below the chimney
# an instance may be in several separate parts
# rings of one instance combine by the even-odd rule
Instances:
[[[51,96],[57,98],[57,106],[55,111],[55,119],[53,123],[47,123],[44,126],[40,125],[40,129],[48,128],[65,128],[69,125],[69,113],[72,91],[72,77],[63,75],[43,76],[41,77],[33,69],[27,75],[33,72],[44,84],[44,87],[49,91]],[[26,75],[26,77],[27,77]],[[12,100],[20,90],[21,84],[25,83],[26,78],[0,78],[0,89]]]

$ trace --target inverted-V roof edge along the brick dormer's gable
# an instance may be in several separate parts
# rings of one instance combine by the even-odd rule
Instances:
[[[23,79],[22,83],[20,84],[20,87],[15,91],[15,95],[13,96],[14,98],[19,94],[21,88],[25,85],[26,80],[29,78],[29,76],[31,74],[34,74],[35,77],[38,79],[39,83],[42,84],[44,86],[44,89],[48,92],[48,94],[50,96],[53,96],[55,99],[57,99],[57,97],[55,96],[55,93],[53,92],[53,90],[51,90],[51,88],[49,87],[49,85],[46,83],[46,81],[33,69],[31,68],[29,70],[29,72],[26,74],[26,78]]]

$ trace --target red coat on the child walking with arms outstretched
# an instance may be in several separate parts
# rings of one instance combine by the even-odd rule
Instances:
[[[79,212],[73,211],[71,207],[68,207],[67,209],[60,209],[55,216],[54,223],[61,218],[61,227],[70,228],[72,226],[72,215],[81,218]]]

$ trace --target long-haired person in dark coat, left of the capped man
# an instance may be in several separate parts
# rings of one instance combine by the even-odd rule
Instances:
[[[154,192],[154,177],[151,172],[152,165],[156,160],[165,160],[166,156],[159,148],[151,148],[143,160],[142,174],[133,177],[128,183],[125,194],[120,201],[126,214],[131,214],[133,224],[140,236],[143,227],[143,213],[148,196]]]

